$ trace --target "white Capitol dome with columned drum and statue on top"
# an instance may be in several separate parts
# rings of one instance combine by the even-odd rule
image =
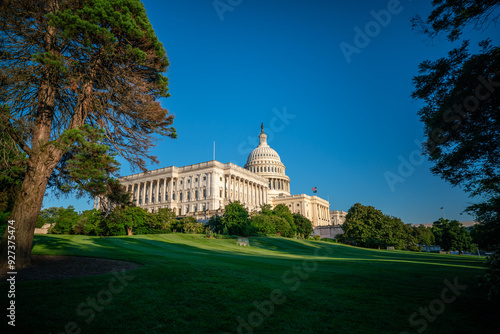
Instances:
[[[259,140],[259,146],[248,155],[245,169],[269,180],[269,195],[290,195],[290,178],[285,174],[279,154],[267,144],[264,125],[261,125]]]

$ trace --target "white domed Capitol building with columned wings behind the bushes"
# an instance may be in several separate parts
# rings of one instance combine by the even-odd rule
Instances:
[[[232,201],[239,201],[249,212],[259,211],[264,204],[284,204],[291,212],[307,217],[313,227],[330,225],[330,203],[317,196],[292,195],[285,170],[278,153],[267,144],[262,125],[259,145],[244,167],[212,160],[155,169],[118,181],[130,192],[136,206],[150,212],[170,208],[178,216],[206,221],[221,215]],[[96,207],[99,204],[96,200]]]

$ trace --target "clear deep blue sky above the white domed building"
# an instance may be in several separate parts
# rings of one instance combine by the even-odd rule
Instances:
[[[316,186],[331,210],[360,202],[406,223],[433,222],[441,207],[446,218],[472,219],[460,215],[472,202],[467,194],[415,160],[423,126],[412,77],[421,61],[453,47],[411,30],[430,0],[143,2],[170,60],[172,96],[162,105],[178,131],[153,148],[160,164],[152,169],[212,160],[214,141],[217,160],[244,166],[263,122],[293,194]],[[390,20],[374,24],[371,11],[388,7]],[[367,25],[370,40],[355,41],[355,28]],[[356,42],[346,57],[341,43]],[[386,175],[400,173],[400,159],[414,164],[391,189]],[[122,160],[121,174],[129,173]],[[93,204],[48,195],[44,207]]]

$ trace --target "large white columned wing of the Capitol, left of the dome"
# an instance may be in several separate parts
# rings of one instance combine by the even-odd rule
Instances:
[[[148,211],[170,208],[179,216],[223,209],[240,201],[249,210],[268,203],[267,180],[235,164],[212,160],[166,167],[118,179],[133,203]]]

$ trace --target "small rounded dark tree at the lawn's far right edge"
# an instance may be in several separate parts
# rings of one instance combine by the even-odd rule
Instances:
[[[458,250],[462,254],[472,247],[469,231],[457,220],[440,218],[432,223],[432,231],[436,237],[436,244],[444,251]]]

